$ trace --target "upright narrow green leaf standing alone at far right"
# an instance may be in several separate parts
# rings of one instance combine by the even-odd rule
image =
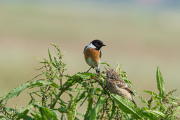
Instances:
[[[156,80],[157,80],[157,88],[159,90],[159,96],[161,98],[164,97],[164,93],[165,93],[165,89],[164,89],[164,80],[163,77],[161,75],[159,66],[157,67],[157,71],[156,71]],[[162,99],[161,99],[162,100]]]

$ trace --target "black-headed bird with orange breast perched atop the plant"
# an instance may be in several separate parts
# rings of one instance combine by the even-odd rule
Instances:
[[[84,48],[84,58],[86,63],[100,73],[100,58],[102,56],[101,47],[106,46],[101,40],[93,40],[88,46]],[[89,69],[89,70],[90,70]],[[87,72],[89,72],[89,70]]]

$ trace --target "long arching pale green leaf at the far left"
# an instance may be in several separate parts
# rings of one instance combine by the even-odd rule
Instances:
[[[24,89],[28,87],[38,87],[38,86],[49,85],[49,84],[51,84],[51,82],[47,80],[37,80],[37,81],[32,81],[30,83],[24,83],[18,86],[17,88],[13,89],[12,91],[10,91],[7,94],[7,96],[3,98],[3,100],[7,100],[12,97],[17,97]]]

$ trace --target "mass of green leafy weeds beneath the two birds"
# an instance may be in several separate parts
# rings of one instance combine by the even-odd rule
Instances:
[[[176,89],[165,92],[164,80],[159,67],[156,72],[159,94],[142,90],[151,95],[150,100],[145,100],[133,90],[142,101],[143,107],[140,108],[126,98],[109,93],[104,71],[99,75],[86,72],[78,72],[72,76],[64,75],[66,64],[62,59],[63,53],[59,46],[51,45],[56,48],[56,57],[52,57],[48,49],[49,60],[44,58],[40,62],[43,67],[36,69],[42,70],[42,73],[1,97],[0,118],[7,120],[78,120],[80,117],[85,120],[179,119],[177,114],[180,109],[180,98],[172,96]],[[110,67],[108,63],[102,64]],[[122,71],[121,65],[118,64],[116,70],[120,78],[132,88],[132,83],[127,78],[127,73]],[[39,76],[45,76],[45,79],[38,79]],[[18,97],[25,89],[35,87],[39,90],[29,93],[31,99],[27,106],[21,109],[7,107],[9,99]],[[70,99],[62,99],[63,94],[68,94]],[[87,110],[79,113],[78,109],[83,106],[85,101],[88,102]]]

